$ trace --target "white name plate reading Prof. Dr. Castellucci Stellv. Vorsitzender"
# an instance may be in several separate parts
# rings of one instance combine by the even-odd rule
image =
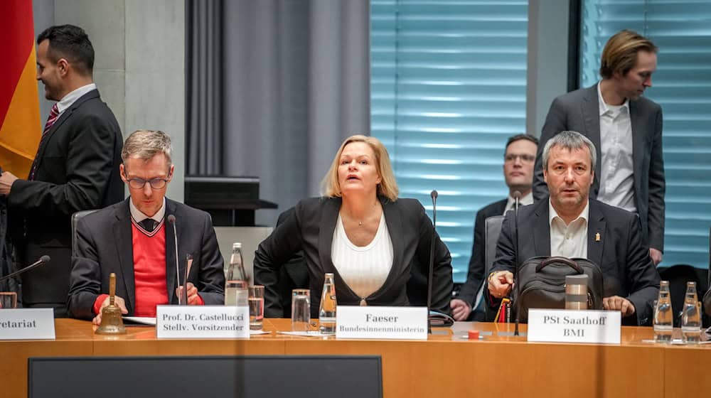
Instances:
[[[250,308],[156,306],[157,338],[250,338]]]

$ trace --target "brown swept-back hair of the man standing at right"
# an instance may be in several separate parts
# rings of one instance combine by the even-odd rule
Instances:
[[[619,31],[609,38],[602,50],[600,76],[611,78],[618,70],[626,75],[637,63],[639,51],[657,52],[657,46],[648,38],[635,31]]]

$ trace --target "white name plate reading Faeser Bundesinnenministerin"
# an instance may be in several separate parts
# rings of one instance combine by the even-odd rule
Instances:
[[[336,338],[427,340],[427,307],[338,306]]]

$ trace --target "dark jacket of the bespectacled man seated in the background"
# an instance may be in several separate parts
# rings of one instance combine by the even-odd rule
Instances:
[[[484,230],[486,228],[486,219],[492,215],[503,215],[503,210],[506,210],[508,199],[499,200],[498,202],[490,203],[476,212],[476,220],[474,221],[474,243],[471,244],[471,257],[469,257],[469,272],[466,274],[466,282],[461,285],[459,290],[459,298],[466,301],[470,306],[474,306],[476,294],[481,289],[481,282],[484,280],[484,269],[486,269],[486,239]]]

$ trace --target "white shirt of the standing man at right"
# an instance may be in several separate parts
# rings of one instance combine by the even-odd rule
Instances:
[[[619,106],[602,99],[597,84],[600,111],[600,190],[597,199],[608,205],[636,213],[634,203],[634,164],[632,160],[632,123],[629,99]]]

